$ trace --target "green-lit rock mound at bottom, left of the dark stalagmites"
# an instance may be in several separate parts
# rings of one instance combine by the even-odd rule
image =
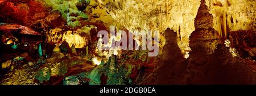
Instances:
[[[101,76],[107,76],[107,85],[131,84],[133,81],[129,78],[131,74],[131,64],[119,64],[116,55],[112,55],[107,63],[102,60],[101,64],[92,71],[81,72],[79,75],[65,78],[64,84],[89,84],[100,85]]]

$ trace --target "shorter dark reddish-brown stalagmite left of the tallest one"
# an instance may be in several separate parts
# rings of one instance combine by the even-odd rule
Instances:
[[[170,28],[166,29],[166,46],[159,63],[156,64],[154,73],[144,80],[143,84],[185,84],[187,77],[188,60],[183,58],[177,46],[177,34]],[[171,54],[171,56],[170,56]]]

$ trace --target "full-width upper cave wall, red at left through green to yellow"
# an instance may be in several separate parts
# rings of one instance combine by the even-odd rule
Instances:
[[[127,30],[159,30],[162,34],[171,28],[179,37],[177,43],[183,54],[191,50],[189,36],[196,29],[194,21],[200,6],[200,0],[91,0],[85,1],[84,6],[79,6],[77,0],[63,3],[48,0],[0,2],[1,8],[9,9],[0,12],[10,11],[9,14],[0,15],[0,19],[7,23],[33,26],[34,22],[46,18],[50,8],[59,11],[65,23],[72,27],[82,26],[83,20],[89,19],[91,22],[102,21],[107,27],[115,25]],[[255,1],[205,2],[213,16],[213,28],[222,38],[228,38],[230,32],[237,30],[255,30]],[[164,42],[165,39],[162,40]]]

